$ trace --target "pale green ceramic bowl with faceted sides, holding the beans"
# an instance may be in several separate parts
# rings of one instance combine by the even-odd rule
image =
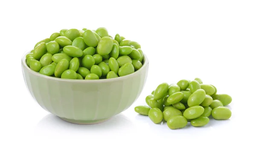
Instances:
[[[140,96],[148,76],[148,58],[133,74],[103,80],[68,80],[31,70],[22,57],[26,87],[38,104],[61,119],[95,124],[128,109]]]

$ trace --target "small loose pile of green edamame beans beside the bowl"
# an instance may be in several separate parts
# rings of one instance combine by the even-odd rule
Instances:
[[[204,126],[209,123],[210,116],[223,120],[232,114],[225,107],[232,98],[228,94],[217,94],[214,85],[204,84],[200,78],[170,85],[161,83],[145,101],[149,107],[140,105],[134,110],[148,115],[155,124],[166,121],[170,129],[184,128],[189,121],[192,126]]]

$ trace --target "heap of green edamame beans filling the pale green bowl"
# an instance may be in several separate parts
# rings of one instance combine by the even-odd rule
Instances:
[[[35,44],[26,55],[33,71],[63,79],[111,79],[132,74],[143,65],[140,44],[104,27],[61,29]]]

